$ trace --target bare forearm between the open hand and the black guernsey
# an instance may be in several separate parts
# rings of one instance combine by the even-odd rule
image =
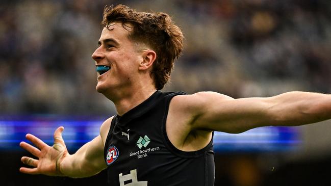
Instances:
[[[93,176],[103,170],[106,166],[103,161],[103,148],[96,144],[100,143],[95,138],[83,145],[77,152],[66,155],[60,164],[60,171],[68,177]]]

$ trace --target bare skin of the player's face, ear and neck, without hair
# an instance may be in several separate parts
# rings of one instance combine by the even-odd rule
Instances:
[[[124,29],[121,23],[116,23],[109,29],[103,29],[99,47],[92,55],[95,65],[111,67],[97,77],[96,91],[112,100],[117,113],[122,115],[156,91],[150,77],[156,53],[148,48],[140,49],[130,41],[129,27]]]

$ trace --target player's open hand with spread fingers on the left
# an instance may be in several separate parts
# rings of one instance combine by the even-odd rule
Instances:
[[[55,130],[54,145],[52,147],[45,144],[39,138],[31,134],[27,134],[26,138],[33,144],[35,144],[39,149],[26,142],[21,142],[19,146],[32,153],[38,158],[38,160],[32,157],[23,156],[21,158],[21,162],[33,168],[21,167],[19,171],[26,174],[64,176],[61,173],[60,164],[63,161],[63,158],[68,155],[68,150],[62,139],[63,130],[63,126]]]

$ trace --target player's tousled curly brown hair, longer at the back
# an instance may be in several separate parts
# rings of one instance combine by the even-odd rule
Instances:
[[[155,87],[160,90],[170,79],[174,60],[183,51],[183,33],[166,13],[137,12],[127,6],[106,6],[101,24],[108,28],[111,23],[133,25],[129,39],[151,47],[157,54],[151,70]]]

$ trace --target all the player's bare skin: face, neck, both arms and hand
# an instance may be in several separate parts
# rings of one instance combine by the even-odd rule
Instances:
[[[130,27],[130,26],[129,26]],[[156,53],[148,46],[139,46],[128,38],[130,29],[114,23],[104,29],[99,46],[92,55],[95,65],[111,69],[97,76],[96,90],[115,103],[118,115],[123,115],[146,100],[155,91],[150,76]],[[331,95],[288,92],[268,98],[234,99],[216,92],[198,92],[175,96],[169,105],[166,132],[171,143],[183,151],[205,147],[212,131],[240,133],[260,126],[294,126],[331,118]],[[86,177],[106,168],[104,145],[113,117],[100,127],[100,135],[68,154],[62,139],[63,127],[54,134],[53,147],[28,134],[36,147],[21,142],[20,146],[37,159],[22,157],[33,168],[20,168],[28,174]]]

